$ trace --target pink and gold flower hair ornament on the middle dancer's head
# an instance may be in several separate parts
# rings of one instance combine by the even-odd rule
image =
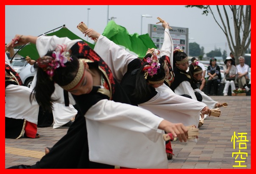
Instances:
[[[145,65],[142,69],[143,72],[145,72],[144,77],[147,79],[148,75],[155,75],[157,73],[157,70],[160,68],[160,63],[157,58],[156,53],[153,53],[151,58],[146,59],[148,65]]]

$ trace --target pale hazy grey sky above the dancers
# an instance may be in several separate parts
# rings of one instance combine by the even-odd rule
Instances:
[[[189,28],[189,42],[196,42],[204,47],[204,52],[214,48],[221,48],[221,52],[229,48],[223,31],[214,21],[211,14],[202,15],[198,8],[185,8],[183,5],[161,6],[6,6],[5,11],[5,41],[9,43],[15,34],[39,36],[62,25],[83,38],[83,34],[76,28],[83,21],[89,28],[102,33],[109,19],[115,17],[117,25],[125,27],[129,34],[141,32],[141,15],[149,14],[152,18],[143,17],[142,34],[147,33],[148,24],[159,22],[161,17],[170,26]],[[90,10],[87,10],[90,8]],[[213,7],[215,10],[216,7]],[[222,7],[221,7],[222,9]],[[21,11],[22,13],[16,13]],[[89,22],[88,22],[89,11]],[[216,10],[215,10],[216,11]],[[216,14],[217,15],[217,14]],[[230,19],[233,21],[232,19]],[[15,22],[15,25],[13,23]],[[14,27],[15,26],[15,27]],[[87,40],[87,38],[85,38]],[[90,39],[89,39],[90,41]]]

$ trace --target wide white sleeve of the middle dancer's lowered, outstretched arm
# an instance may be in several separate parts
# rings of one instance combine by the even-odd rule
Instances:
[[[156,88],[156,91],[156,96],[139,104],[139,107],[150,110],[169,122],[198,126],[200,111],[206,104],[177,95],[165,84]]]

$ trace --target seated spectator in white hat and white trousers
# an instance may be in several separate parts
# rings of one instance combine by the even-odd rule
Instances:
[[[228,87],[229,86],[231,86],[232,93],[234,93],[233,91],[236,89],[236,86],[235,86],[236,66],[234,66],[232,64],[232,62],[234,62],[234,61],[229,56],[224,61],[224,64],[226,66],[223,66],[224,74],[225,74],[225,76],[224,76],[225,87],[223,89],[223,96],[228,95]]]

